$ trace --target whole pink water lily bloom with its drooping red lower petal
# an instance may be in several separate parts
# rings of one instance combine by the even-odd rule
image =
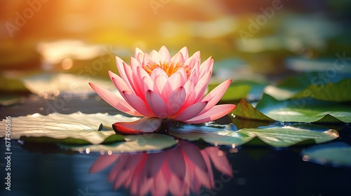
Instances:
[[[159,52],[152,50],[150,55],[136,48],[130,65],[119,57],[116,57],[116,63],[120,76],[112,71],[109,75],[121,97],[89,84],[114,108],[143,117],[134,122],[114,123],[112,126],[118,132],[155,132],[166,119],[206,123],[227,115],[235,108],[234,104],[216,105],[232,80],[225,80],[204,96],[213,70],[213,59],[208,57],[201,64],[199,51],[189,57],[184,47],[171,57],[165,46]]]

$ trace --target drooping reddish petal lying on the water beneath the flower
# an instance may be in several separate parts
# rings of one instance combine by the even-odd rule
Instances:
[[[114,132],[122,134],[143,134],[155,132],[161,126],[162,119],[141,118],[134,122],[117,122],[112,125]]]

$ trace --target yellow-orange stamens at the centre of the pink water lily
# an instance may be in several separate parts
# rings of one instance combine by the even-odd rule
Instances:
[[[149,75],[151,75],[151,73],[152,73],[152,71],[154,71],[154,69],[161,68],[167,73],[167,76],[170,77],[173,73],[176,73],[178,71],[178,69],[180,69],[182,67],[184,67],[185,73],[187,73],[187,75],[189,75],[190,68],[188,68],[187,66],[185,66],[181,62],[171,62],[171,63],[161,62],[160,64],[157,64],[155,62],[149,62],[148,64],[143,66],[143,69],[147,73],[149,73]]]

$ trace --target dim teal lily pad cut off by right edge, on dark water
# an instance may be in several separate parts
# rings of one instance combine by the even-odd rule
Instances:
[[[305,149],[302,154],[305,161],[351,167],[351,146],[343,142],[312,146]]]

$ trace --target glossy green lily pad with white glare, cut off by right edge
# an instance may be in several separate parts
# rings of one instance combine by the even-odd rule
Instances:
[[[323,102],[312,98],[277,101],[270,95],[264,94],[256,109],[277,121],[300,123],[316,121],[319,123],[351,122],[350,104]],[[262,114],[253,113],[249,117],[259,120],[260,118],[256,118],[256,116],[262,116]]]

